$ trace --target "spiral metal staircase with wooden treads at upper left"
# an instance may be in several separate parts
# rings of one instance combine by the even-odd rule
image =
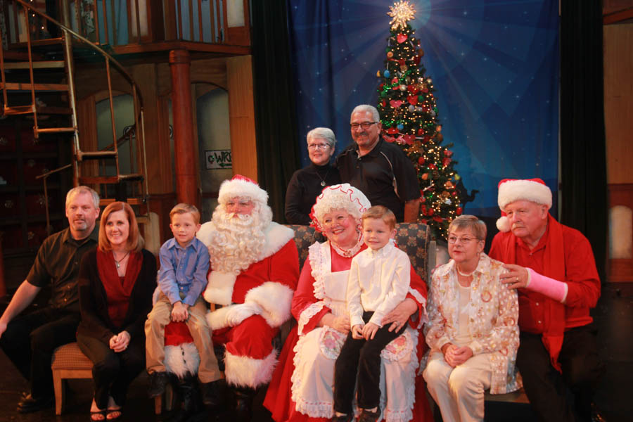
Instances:
[[[101,205],[114,200],[127,201],[136,207],[137,214],[146,215],[148,187],[146,183],[147,164],[144,139],[143,99],[141,91],[131,75],[102,46],[89,41],[86,37],[70,29],[69,2],[61,1],[62,22],[42,13],[36,7],[23,0],[8,0],[6,7],[10,11],[5,20],[12,20],[14,32],[7,30],[6,38],[0,44],[11,46],[0,49],[0,89],[2,107],[0,117],[27,115],[32,119],[34,140],[51,134],[68,134],[72,137],[72,160],[68,164],[45,172],[38,176],[44,181],[46,203],[46,223],[50,227],[48,193],[46,179],[56,172],[72,169],[74,186],[87,185],[100,193]],[[60,37],[32,39],[35,33],[41,33],[45,26],[55,28]],[[76,26],[76,25],[75,25]],[[106,46],[107,47],[107,46]],[[89,151],[82,143],[77,129],[77,98],[75,97],[75,58],[82,55],[89,60],[103,60],[108,78],[108,98],[110,102],[110,123],[113,140],[110,145],[96,151]],[[129,84],[134,100],[134,126],[117,138],[115,111],[113,102],[113,72],[117,72]],[[58,101],[49,106],[40,97],[56,93]],[[46,97],[50,98],[50,97]],[[51,101],[47,101],[51,102]],[[129,167],[131,172],[122,173],[120,151],[124,143],[129,147]],[[82,164],[96,160],[98,166]],[[127,163],[126,163],[127,164]]]

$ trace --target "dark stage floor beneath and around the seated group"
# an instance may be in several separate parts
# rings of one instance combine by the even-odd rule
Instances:
[[[3,309],[4,311],[4,306]],[[633,414],[633,283],[607,283],[603,287],[594,318],[599,330],[600,354],[606,364],[604,377],[596,394],[596,403],[609,422],[630,421]],[[65,414],[55,416],[54,409],[22,415],[15,411],[20,394],[27,388],[7,357],[0,351],[0,422],[86,422],[91,401],[91,381],[70,380]],[[141,376],[130,388],[124,408],[124,421],[168,421],[170,415],[155,416],[153,400],[146,395],[147,381]],[[264,391],[255,399],[253,421],[271,421],[269,413],[261,405]],[[503,408],[501,408],[503,406]],[[514,409],[514,410],[513,410]],[[520,405],[492,404],[487,406],[487,420],[524,420],[525,411]],[[510,412],[517,412],[514,417]],[[230,421],[229,414],[200,414],[196,421]]]

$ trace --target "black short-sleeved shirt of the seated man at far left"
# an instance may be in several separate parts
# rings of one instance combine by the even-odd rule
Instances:
[[[70,228],[58,231],[44,239],[37,251],[35,262],[27,281],[33,286],[51,286],[49,305],[57,309],[79,312],[77,274],[84,253],[94,249],[98,243],[99,227],[85,239],[76,241]]]

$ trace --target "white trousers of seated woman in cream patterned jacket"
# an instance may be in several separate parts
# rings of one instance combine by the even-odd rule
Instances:
[[[422,375],[444,422],[483,421],[484,392],[490,388],[492,375],[487,353],[453,368],[442,352],[433,352]]]

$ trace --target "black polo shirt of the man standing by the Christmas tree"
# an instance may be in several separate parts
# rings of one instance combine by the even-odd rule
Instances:
[[[420,185],[413,163],[399,146],[382,138],[362,157],[358,155],[357,143],[352,143],[338,155],[335,164],[343,183],[359,188],[371,205],[388,207],[398,222],[404,219],[404,203],[420,198]]]

